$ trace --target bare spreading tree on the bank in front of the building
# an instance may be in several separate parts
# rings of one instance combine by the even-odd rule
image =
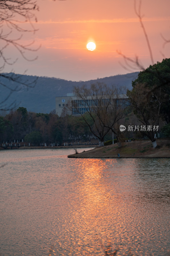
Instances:
[[[110,88],[103,83],[91,84],[90,89],[85,85],[74,87],[78,100],[72,100],[70,108],[81,114],[91,133],[99,139],[99,146],[104,146],[104,136],[124,116],[122,92],[121,88]]]

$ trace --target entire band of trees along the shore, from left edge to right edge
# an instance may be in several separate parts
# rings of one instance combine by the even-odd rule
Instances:
[[[170,137],[170,59],[141,71],[132,86],[133,89],[127,91],[127,102],[120,100],[122,91],[115,86],[97,83],[91,84],[89,89],[86,86],[75,87],[74,92],[84,102],[87,112],[81,113],[77,103],[70,108],[74,108],[80,116],[68,115],[67,108],[58,116],[55,110],[43,114],[19,107],[0,116],[0,142],[24,140],[34,145],[61,145],[98,138],[104,146],[104,141],[111,140],[114,132],[114,138],[119,142],[129,136],[139,139],[147,137],[156,148],[160,132]],[[91,102],[88,101],[89,95],[94,103],[98,102],[96,105],[88,105]],[[120,125],[127,129],[120,131]]]

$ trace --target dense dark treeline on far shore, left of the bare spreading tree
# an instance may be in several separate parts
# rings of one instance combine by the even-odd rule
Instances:
[[[28,112],[19,107],[9,114],[0,116],[0,142],[22,139],[34,145],[45,142],[61,145],[75,140],[89,140],[92,134],[82,117],[70,116],[63,112],[58,116],[55,110],[50,114]],[[93,136],[94,137],[94,136]]]

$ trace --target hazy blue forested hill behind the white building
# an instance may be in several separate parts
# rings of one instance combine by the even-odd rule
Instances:
[[[92,83],[103,82],[107,85],[126,86],[128,89],[131,89],[131,82],[137,78],[137,75],[138,72],[134,72],[85,82],[73,82],[60,78],[40,76],[34,88],[18,85],[17,91],[12,92],[11,96],[5,101],[5,106],[8,107],[15,101],[17,108],[24,107],[27,108],[27,111],[36,113],[50,113],[50,111],[55,109],[55,97],[66,96],[67,93],[71,93],[73,86],[81,86],[83,84],[89,86]],[[27,83],[31,83],[35,78],[36,76],[21,76],[21,79],[27,81]],[[3,77],[1,77],[0,82],[6,85],[6,87],[0,85],[0,102],[2,102],[10,92],[7,88],[15,88],[17,83],[3,79]]]

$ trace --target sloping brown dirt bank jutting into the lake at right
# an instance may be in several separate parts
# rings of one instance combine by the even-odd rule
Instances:
[[[82,153],[69,155],[70,158],[158,158],[170,157],[170,139],[158,139],[157,148],[153,148],[150,140],[123,142],[118,148],[118,143],[104,147],[97,147]],[[79,150],[77,149],[79,152]]]

